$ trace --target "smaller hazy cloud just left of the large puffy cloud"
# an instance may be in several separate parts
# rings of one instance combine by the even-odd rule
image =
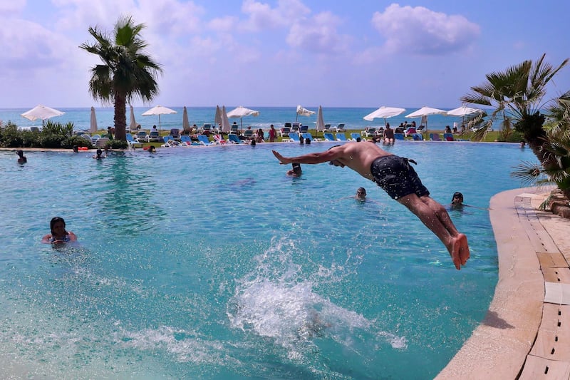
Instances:
[[[335,54],[348,49],[350,38],[338,34],[341,19],[331,12],[316,14],[311,20],[291,26],[286,41],[289,46],[311,53]]]

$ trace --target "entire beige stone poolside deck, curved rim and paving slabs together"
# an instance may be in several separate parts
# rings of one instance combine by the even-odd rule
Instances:
[[[538,210],[547,192],[492,197],[499,282],[484,321],[437,379],[570,379],[570,220]]]

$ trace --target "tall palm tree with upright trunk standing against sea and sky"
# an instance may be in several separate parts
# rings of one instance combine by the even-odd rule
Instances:
[[[131,17],[121,17],[115,24],[113,38],[96,26],[89,28],[95,43],[80,48],[97,54],[103,64],[91,69],[89,91],[94,99],[115,103],[115,138],[127,140],[126,104],[133,98],[150,102],[158,93],[159,63],[145,53],[147,43],[140,38],[145,24],[135,25]]]

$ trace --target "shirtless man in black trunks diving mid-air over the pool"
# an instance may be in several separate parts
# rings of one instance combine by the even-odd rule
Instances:
[[[418,174],[410,166],[415,163],[398,157],[373,143],[346,143],[335,145],[321,153],[309,153],[298,157],[284,157],[276,150],[273,154],[281,164],[318,164],[328,162],[344,168],[348,166],[413,212],[429,228],[450,252],[455,268],[461,269],[469,259],[467,237],[458,232],[445,207],[430,197]]]

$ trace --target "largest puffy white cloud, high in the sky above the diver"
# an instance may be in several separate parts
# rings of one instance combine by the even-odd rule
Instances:
[[[468,48],[480,27],[460,15],[447,15],[423,6],[391,4],[375,12],[372,24],[385,37],[386,53],[440,55]]]

